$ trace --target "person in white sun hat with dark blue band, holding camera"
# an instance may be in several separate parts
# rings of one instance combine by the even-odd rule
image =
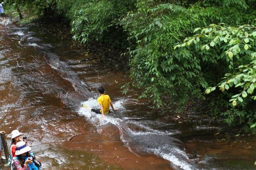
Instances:
[[[12,163],[12,170],[30,170],[28,164],[33,162],[33,158],[29,156],[30,147],[24,141],[16,144],[16,157]]]

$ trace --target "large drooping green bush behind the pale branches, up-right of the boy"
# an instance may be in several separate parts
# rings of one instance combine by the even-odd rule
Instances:
[[[200,4],[184,8],[151,0],[137,1],[136,7],[138,11],[130,12],[121,23],[130,33],[129,40],[136,42],[129,51],[132,57],[131,78],[138,88],[145,88],[141,97],[153,98],[157,106],[162,105],[163,93],[176,96],[181,102],[186,101],[188,94],[203,98],[199,91],[206,88],[210,81],[206,80],[202,67],[205,69],[216,65],[218,54],[173,47],[183,37],[190,35],[193,27],[206,26],[211,22],[232,22],[226,16],[232,14],[234,9],[202,7]],[[237,19],[244,20],[242,16]],[[188,42],[191,43],[193,40]],[[183,43],[181,46],[185,45]],[[209,45],[206,49],[210,49]]]

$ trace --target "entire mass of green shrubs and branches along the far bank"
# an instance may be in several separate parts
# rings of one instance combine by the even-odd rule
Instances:
[[[255,131],[256,0],[6,0],[65,18],[75,41],[127,49],[130,86],[157,107],[208,99],[209,112]],[[220,90],[216,90],[220,89]],[[211,93],[210,93],[211,92]],[[205,95],[209,94],[210,98]]]

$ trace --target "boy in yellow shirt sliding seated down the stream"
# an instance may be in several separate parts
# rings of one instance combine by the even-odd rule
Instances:
[[[104,88],[99,87],[97,88],[100,97],[98,97],[97,102],[100,105],[100,109],[91,109],[90,107],[86,106],[85,104],[82,104],[83,107],[86,109],[89,109],[90,111],[93,111],[98,114],[102,114],[102,119],[104,119],[104,115],[109,113],[109,106],[112,107],[113,111],[118,110],[118,108],[114,108],[110,97],[107,94],[104,94]]]

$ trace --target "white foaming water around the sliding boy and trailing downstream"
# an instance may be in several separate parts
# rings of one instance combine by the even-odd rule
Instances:
[[[114,107],[118,107],[118,115],[122,114],[125,110],[124,104],[126,100],[121,99],[117,102],[114,102]],[[81,104],[85,104],[90,108],[98,108],[99,105],[94,98],[90,98]],[[170,131],[159,131],[152,129],[147,125],[144,125],[142,122],[136,120],[142,120],[142,118],[133,118],[133,117],[124,117],[118,118],[115,115],[109,114],[102,119],[100,114],[96,114],[84,107],[80,107],[78,111],[79,115],[83,115],[86,120],[90,121],[97,129],[100,129],[101,126],[111,123],[116,125],[120,130],[120,140],[124,143],[130,152],[136,153],[150,153],[155,154],[159,157],[162,157],[166,160],[169,160],[175,166],[178,166],[184,170],[197,169],[196,165],[189,162],[189,158],[186,155],[186,152],[181,150],[178,145],[181,142],[178,139],[170,137],[170,135],[176,132]],[[131,129],[132,127],[139,127]],[[138,130],[139,129],[139,130]],[[102,129],[98,130],[98,133],[101,133]],[[136,154],[138,156],[138,154]],[[193,165],[192,165],[193,164]]]

